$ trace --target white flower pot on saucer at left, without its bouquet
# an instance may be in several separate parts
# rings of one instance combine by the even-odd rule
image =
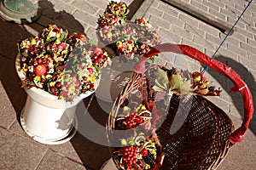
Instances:
[[[20,73],[19,59],[18,55],[15,66],[21,80],[24,76]],[[39,88],[24,89],[27,99],[20,114],[21,126],[32,139],[43,144],[62,144],[72,139],[78,126],[76,107],[82,99],[94,93],[81,94],[70,103]]]

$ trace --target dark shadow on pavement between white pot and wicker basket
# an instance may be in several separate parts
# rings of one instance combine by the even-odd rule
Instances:
[[[78,105],[76,115],[79,127],[71,143],[86,169],[100,169],[103,163],[110,158],[110,152],[106,146],[108,139],[105,128],[108,111],[102,110],[96,97],[92,98],[90,100],[91,97],[88,97]],[[87,110],[85,108],[88,104],[90,107]],[[106,105],[110,111],[112,105]]]

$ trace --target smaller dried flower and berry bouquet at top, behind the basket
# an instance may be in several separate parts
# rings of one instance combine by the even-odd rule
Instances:
[[[120,55],[122,61],[137,61],[141,54],[160,43],[160,35],[151,31],[151,25],[144,18],[131,22],[126,20],[127,14],[129,9],[125,3],[111,1],[97,21],[97,35],[103,46],[112,49],[113,56]]]

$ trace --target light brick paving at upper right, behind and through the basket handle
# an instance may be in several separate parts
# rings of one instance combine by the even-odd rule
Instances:
[[[183,2],[189,3],[195,8],[198,8],[198,10],[212,14],[212,16],[231,25],[235,23],[248,3],[245,0],[186,0]],[[241,75],[251,88],[254,98],[256,90],[255,11],[256,3],[254,2],[237,24],[233,35],[228,37],[216,55],[216,59],[230,65]],[[198,48],[209,56],[214,54],[218,45],[225,37],[218,29],[160,0],[154,0],[145,17],[151,22],[154,28],[165,33],[166,37],[172,39],[172,42],[183,43]],[[202,67],[198,62],[191,62],[191,59],[187,62],[190,70],[199,71]],[[211,98],[211,100],[224,111],[235,116],[243,116],[240,94],[230,94],[229,92],[229,89],[232,88],[232,83],[212,70],[207,71],[206,76],[217,87],[224,90],[220,98]]]

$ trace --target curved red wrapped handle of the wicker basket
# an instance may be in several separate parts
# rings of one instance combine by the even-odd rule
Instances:
[[[241,124],[241,127],[236,129],[235,132],[230,134],[230,142],[232,144],[236,144],[240,142],[247,131],[249,123],[253,117],[253,96],[247,87],[247,84],[241,80],[241,77],[236,73],[236,71],[232,70],[232,68],[228,65],[224,65],[223,63],[210,58],[207,54],[202,53],[196,48],[189,47],[187,45],[182,44],[172,44],[172,43],[163,43],[154,46],[145,54],[143,58],[139,60],[137,65],[135,66],[135,71],[137,73],[143,72],[144,69],[144,61],[151,56],[156,54],[160,54],[162,52],[172,52],[177,54],[185,54],[188,55],[190,58],[196,59],[201,63],[208,65],[215,71],[218,71],[224,76],[230,78],[230,80],[235,84],[234,88],[231,88],[231,92],[239,91],[241,93],[242,99],[244,100],[244,120]]]

